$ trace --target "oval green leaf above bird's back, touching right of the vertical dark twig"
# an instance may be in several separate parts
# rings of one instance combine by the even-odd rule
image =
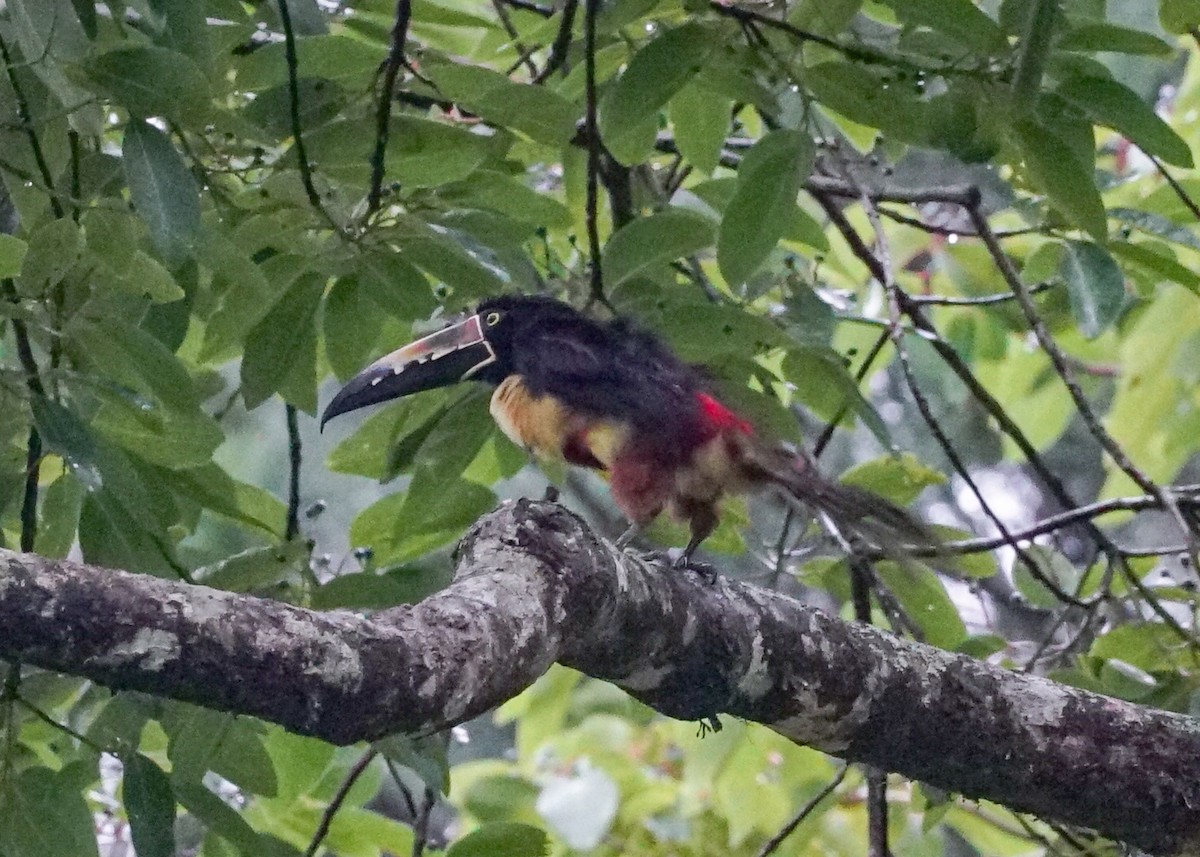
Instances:
[[[708,217],[683,209],[632,220],[605,245],[605,282],[614,288],[648,268],[691,256],[713,244],[713,233]]]

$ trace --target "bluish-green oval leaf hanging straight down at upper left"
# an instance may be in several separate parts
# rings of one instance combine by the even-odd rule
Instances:
[[[188,254],[200,228],[200,191],[170,139],[148,122],[125,128],[121,162],[138,215],[170,265]]]

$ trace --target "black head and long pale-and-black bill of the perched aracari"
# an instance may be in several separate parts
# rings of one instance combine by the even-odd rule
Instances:
[[[498,384],[514,372],[515,355],[530,336],[562,325],[594,324],[553,298],[488,298],[474,313],[379,358],[350,378],[325,408],[322,426],[349,410],[460,380]]]

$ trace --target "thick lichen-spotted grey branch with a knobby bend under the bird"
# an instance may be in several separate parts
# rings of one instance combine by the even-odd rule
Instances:
[[[554,661],[1158,853],[1200,851],[1200,726],[623,555],[570,513],[481,519],[455,583],[370,618],[0,552],[0,657],[335,743],[462,723]]]

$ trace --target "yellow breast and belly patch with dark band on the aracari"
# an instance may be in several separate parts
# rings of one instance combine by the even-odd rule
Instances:
[[[518,374],[500,382],[490,410],[518,447],[587,467],[611,467],[628,437],[619,424],[580,414],[553,396],[534,395]]]

